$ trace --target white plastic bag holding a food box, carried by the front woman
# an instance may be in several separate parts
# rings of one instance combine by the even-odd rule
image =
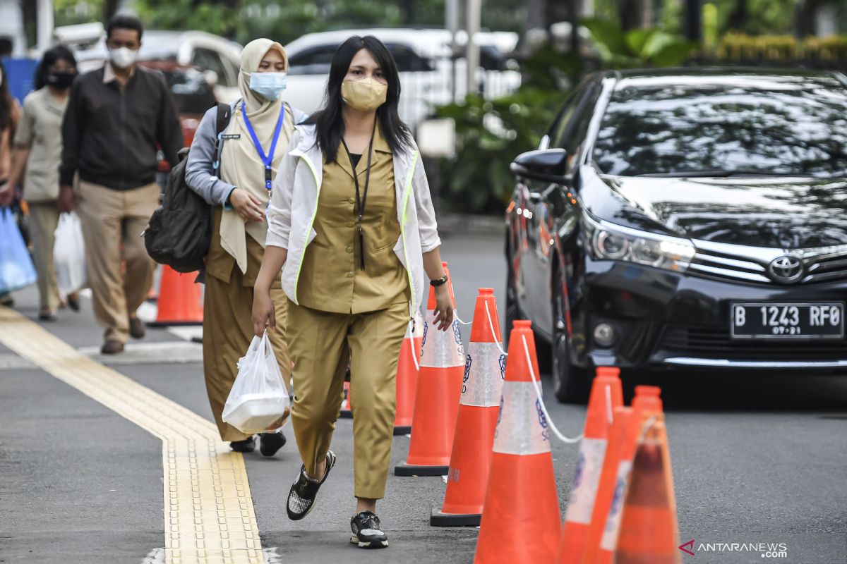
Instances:
[[[290,413],[291,399],[265,332],[253,337],[246,355],[239,359],[238,375],[221,419],[253,435],[280,429]]]

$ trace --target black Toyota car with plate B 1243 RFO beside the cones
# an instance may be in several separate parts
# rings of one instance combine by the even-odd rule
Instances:
[[[601,365],[847,367],[844,75],[593,74],[512,172],[507,321],[560,400]]]

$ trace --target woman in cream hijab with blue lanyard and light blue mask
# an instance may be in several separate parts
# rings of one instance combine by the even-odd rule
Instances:
[[[241,52],[238,87],[241,99],[231,105],[230,123],[215,154],[217,107],[203,116],[185,168],[191,189],[214,206],[212,244],[206,257],[203,303],[203,370],[206,389],[221,439],[237,452],[252,452],[255,441],[221,420],[237,374],[238,359],[252,341],[253,286],[262,264],[268,223],[265,208],[271,179],[280,166],[296,123],[306,118],[285,104],[288,57],[269,39],[251,41]],[[219,167],[217,166],[219,163]],[[285,326],[285,296],[276,281],[270,290],[277,304],[274,320]],[[283,375],[291,370],[285,332],[269,333]],[[282,431],[260,435],[263,455],[285,445]]]

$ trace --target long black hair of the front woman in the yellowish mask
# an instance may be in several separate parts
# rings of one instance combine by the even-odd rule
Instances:
[[[367,49],[382,69],[382,74],[388,82],[388,94],[385,103],[377,108],[376,116],[382,129],[382,136],[388,143],[391,152],[401,151],[403,146],[411,145],[412,133],[406,123],[400,119],[397,105],[400,102],[400,74],[397,63],[382,41],[374,36],[352,36],[335,51],[329,66],[329,79],[324,94],[324,107],[320,112],[313,113],[307,124],[313,124],[317,129],[318,144],[324,150],[326,162],[335,162],[338,147],[344,137],[344,118],[341,110],[344,101],[341,99],[341,82],[350,63],[357,52]]]

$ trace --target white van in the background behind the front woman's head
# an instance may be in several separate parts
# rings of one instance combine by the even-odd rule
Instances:
[[[452,63],[451,34],[447,30],[374,29],[338,30],[310,33],[291,41],[288,52],[289,73],[285,101],[311,113],[321,106],[329,74],[329,63],[341,43],[350,36],[375,36],[385,43],[400,71],[400,117],[414,128],[429,117],[432,107],[462,99],[466,92],[464,58]],[[480,33],[480,68],[477,73],[484,96],[504,96],[520,86],[520,73],[507,54],[505,45],[517,44],[517,34]],[[460,47],[467,35],[457,36]],[[455,87],[455,91],[454,91]]]

